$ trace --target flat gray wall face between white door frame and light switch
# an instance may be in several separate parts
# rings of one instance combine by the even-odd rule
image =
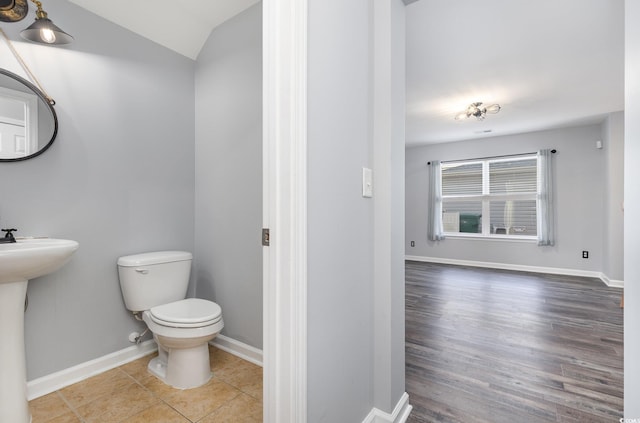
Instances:
[[[308,7],[308,421],[358,422],[373,403],[371,5]]]

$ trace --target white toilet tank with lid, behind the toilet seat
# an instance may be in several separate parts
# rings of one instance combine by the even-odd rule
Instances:
[[[187,295],[193,255],[157,251],[118,259],[118,277],[125,306],[131,311],[182,300]]]

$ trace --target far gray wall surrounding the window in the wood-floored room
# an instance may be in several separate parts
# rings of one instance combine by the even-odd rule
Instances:
[[[621,120],[611,122],[620,125]],[[621,135],[620,130],[611,131]],[[605,193],[608,189],[608,157],[610,146],[596,149],[602,140],[601,125],[588,125],[520,135],[493,137],[408,148],[406,168],[406,245],[409,256],[424,256],[541,266],[600,272],[604,268],[604,231],[607,227]],[[474,157],[499,156],[556,148],[554,155],[556,200],[556,245],[538,247],[532,242],[485,241],[447,238],[441,242],[427,241],[427,162]],[[621,158],[616,159],[618,162]],[[616,200],[617,201],[617,200]],[[415,241],[415,247],[410,242]],[[620,238],[611,240],[619,244]],[[581,257],[589,251],[589,259]],[[613,263],[613,266],[619,266]],[[610,269],[620,275],[620,269]]]

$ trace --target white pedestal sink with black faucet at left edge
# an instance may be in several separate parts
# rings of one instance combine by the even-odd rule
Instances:
[[[0,244],[0,422],[29,423],[24,301],[29,279],[58,270],[78,249],[66,239]]]

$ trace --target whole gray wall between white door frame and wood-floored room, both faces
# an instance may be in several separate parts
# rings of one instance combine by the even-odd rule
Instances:
[[[391,412],[404,392],[404,212],[394,203],[404,175],[404,8],[375,7],[309,1],[310,422]],[[373,169],[372,199],[361,196],[362,167]]]

